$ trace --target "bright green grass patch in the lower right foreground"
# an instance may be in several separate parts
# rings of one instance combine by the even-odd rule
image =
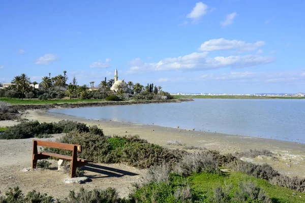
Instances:
[[[295,192],[294,190],[280,187],[277,185],[271,185],[265,180],[258,179],[240,172],[231,172],[226,175],[200,173],[190,176],[188,178],[191,184],[191,188],[203,193],[210,192],[213,188],[222,186],[225,187],[232,184],[230,195],[234,195],[238,188],[239,182],[254,182],[257,186],[263,188],[263,190],[270,196],[272,202],[286,203],[286,202],[304,202],[304,194]],[[293,195],[296,194],[296,195]],[[299,197],[301,196],[301,198]]]

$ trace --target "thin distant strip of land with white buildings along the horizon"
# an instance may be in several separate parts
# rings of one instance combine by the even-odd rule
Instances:
[[[238,98],[238,99],[305,99],[302,96],[238,96],[238,95],[173,95],[180,98]]]

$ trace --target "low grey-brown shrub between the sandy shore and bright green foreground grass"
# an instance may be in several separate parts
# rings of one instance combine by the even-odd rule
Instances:
[[[266,163],[262,165],[256,165],[250,162],[235,160],[227,164],[227,166],[233,171],[242,172],[267,181],[270,181],[273,177],[280,175],[276,170],[274,170],[270,165]]]

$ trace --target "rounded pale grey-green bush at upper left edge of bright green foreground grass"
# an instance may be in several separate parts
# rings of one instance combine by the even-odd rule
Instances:
[[[185,177],[200,172],[221,174],[217,160],[206,152],[185,155],[175,165],[174,172]]]

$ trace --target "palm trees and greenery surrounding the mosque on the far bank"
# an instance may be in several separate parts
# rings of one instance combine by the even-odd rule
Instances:
[[[60,102],[77,102],[89,99],[105,99],[107,100],[130,100],[130,99],[172,99],[173,96],[168,92],[162,91],[162,87],[156,87],[154,84],[147,84],[146,87],[139,83],[122,83],[118,86],[117,91],[112,91],[114,80],[101,81],[98,87],[95,87],[95,81],[89,82],[90,87],[86,84],[78,85],[77,80],[73,77],[72,81],[68,84],[67,71],[63,71],[64,75],[59,74],[51,77],[48,76],[41,78],[41,82],[31,82],[30,78],[25,74],[15,76],[11,83],[13,85],[0,89],[0,97],[6,97],[6,101],[11,104],[53,104]],[[35,85],[39,84],[39,88]],[[70,100],[64,97],[69,98]],[[21,101],[20,101],[21,98]],[[23,98],[27,98],[23,102]],[[45,101],[49,101],[49,103]],[[74,101],[75,100],[75,101]]]

